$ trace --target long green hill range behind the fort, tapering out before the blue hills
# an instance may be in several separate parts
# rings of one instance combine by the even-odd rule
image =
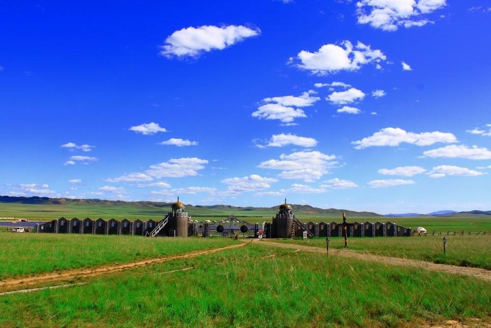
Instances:
[[[1,208],[1,204],[9,204],[9,211],[5,212]],[[17,217],[25,215],[23,213],[36,212],[35,206],[39,207],[39,211],[53,215],[95,215],[102,213],[108,215],[127,215],[132,217],[135,215],[163,215],[170,210],[172,203],[162,202],[124,202],[124,201],[109,201],[103,199],[69,199],[69,198],[49,198],[49,197],[13,197],[0,196],[0,215],[13,214]],[[232,205],[186,205],[186,211],[189,211],[193,216],[221,216],[224,214],[235,214],[251,217],[268,217],[273,216],[278,211],[278,206],[270,208],[256,207],[238,207]],[[321,209],[310,205],[292,204],[294,213],[299,217],[305,216],[322,216],[322,217],[337,217],[342,216],[343,211],[348,217],[376,217],[382,216],[374,212],[356,212],[348,209]],[[27,217],[29,217],[27,215]]]

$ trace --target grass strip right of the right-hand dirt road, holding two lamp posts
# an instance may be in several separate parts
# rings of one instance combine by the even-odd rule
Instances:
[[[354,251],[491,270],[491,235],[448,236],[447,239],[446,254],[443,254],[443,244],[439,236],[350,238],[348,244],[349,249]],[[326,248],[324,238],[265,240]],[[329,248],[343,249],[344,238],[331,238]]]

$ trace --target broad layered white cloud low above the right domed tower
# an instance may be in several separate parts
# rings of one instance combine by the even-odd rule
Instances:
[[[312,182],[327,174],[329,168],[337,162],[335,155],[320,151],[298,151],[289,155],[281,154],[280,160],[270,159],[258,165],[259,168],[283,170],[278,177],[283,179],[300,179]]]

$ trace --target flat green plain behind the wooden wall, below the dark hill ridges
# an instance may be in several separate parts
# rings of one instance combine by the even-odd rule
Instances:
[[[54,219],[61,216],[72,217],[91,217],[91,218],[130,218],[130,219],[154,219],[158,220],[170,210],[170,207],[152,208],[148,205],[138,205],[138,203],[121,203],[114,205],[112,203],[103,204],[77,204],[67,203],[62,205],[53,204],[21,204],[21,203],[0,203],[0,217],[16,217],[28,219]],[[230,214],[240,216],[252,223],[271,222],[272,217],[276,214],[276,209],[254,209],[254,210],[234,210],[234,209],[202,209],[191,208],[190,215],[194,220],[219,220],[226,218]],[[324,222],[341,222],[342,218],[329,216],[319,216],[305,212],[296,213],[301,221]],[[327,215],[327,214],[326,214]],[[349,222],[395,222],[405,227],[416,228],[425,227],[428,232],[484,232],[491,234],[491,217],[474,216],[474,217],[348,217]]]

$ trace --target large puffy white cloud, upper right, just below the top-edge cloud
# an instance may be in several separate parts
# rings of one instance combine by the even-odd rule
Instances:
[[[317,52],[311,53],[306,50],[300,51],[294,63],[301,69],[311,71],[313,74],[326,75],[334,74],[341,70],[355,71],[362,65],[368,63],[378,63],[386,60],[386,56],[380,50],[372,50],[369,45],[357,42],[355,46],[350,41],[342,41],[340,45],[326,44]]]

